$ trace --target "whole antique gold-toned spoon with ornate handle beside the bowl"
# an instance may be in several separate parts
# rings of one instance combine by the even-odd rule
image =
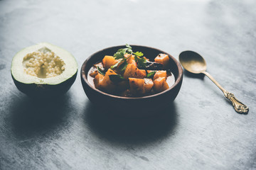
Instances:
[[[208,72],[206,72],[206,61],[203,59],[203,57],[201,57],[201,55],[198,55],[198,53],[193,51],[184,51],[179,55],[179,61],[181,62],[183,68],[188,72],[193,74],[205,74],[211,81],[213,81],[213,83],[216,84],[221,91],[223,91],[224,96],[231,101],[236,112],[243,114],[248,113],[249,108],[245,104],[238,101],[234,94],[226,91]]]

